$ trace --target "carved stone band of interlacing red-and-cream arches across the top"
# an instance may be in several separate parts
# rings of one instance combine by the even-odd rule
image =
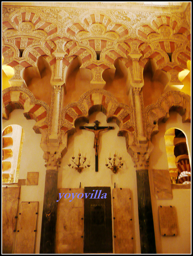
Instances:
[[[13,12],[10,12],[10,9]],[[74,53],[73,48],[70,49],[70,55],[80,56],[83,60],[82,67],[91,69],[94,74],[92,82],[96,83],[98,80],[99,84],[103,84],[102,72],[106,68],[114,68],[113,64],[116,58],[125,58],[125,50],[121,48],[121,44],[125,44],[130,38],[137,38],[146,42],[151,48],[143,58],[155,58],[158,69],[171,73],[171,82],[176,82],[178,77],[174,70],[179,69],[179,67],[186,68],[184,67],[185,62],[188,60],[187,58],[190,58],[188,40],[190,28],[187,17],[188,14],[175,13],[175,11],[168,14],[168,12],[163,11],[155,13],[152,11],[107,9],[104,12],[97,9],[88,11],[84,8],[72,11],[70,8],[59,7],[3,7],[3,36],[10,44],[12,42],[12,45],[15,45],[16,52],[18,52],[17,47],[27,46],[22,59],[14,55],[12,59],[5,58],[5,64],[16,61],[25,68],[36,65],[37,56],[35,55],[37,54],[33,55],[32,49],[38,52],[39,56],[51,56],[53,47],[50,48],[50,43],[45,44],[45,42],[54,42],[55,44],[58,44],[56,41],[61,40],[77,42],[77,49],[74,49]],[[10,26],[13,29],[8,29]],[[8,32],[12,33],[8,34]],[[21,37],[21,35],[23,36]],[[89,42],[88,37],[90,38]],[[162,41],[164,41],[164,46],[160,45]],[[84,50],[82,55],[82,51],[79,50],[83,49],[85,44],[89,48],[85,49],[86,51]],[[112,49],[114,50],[112,51]],[[137,48],[135,47],[135,49]],[[158,54],[156,53],[157,49],[159,49]],[[93,51],[96,50],[104,52],[104,54],[101,53],[100,61],[95,60],[96,55],[93,54]],[[172,64],[166,52],[173,52]],[[181,52],[185,54],[181,54]],[[64,57],[64,59],[66,58]],[[52,67],[53,76],[57,69],[54,59],[52,58],[50,61],[52,61],[51,66],[54,64]],[[62,72],[65,72],[68,64],[68,59],[63,61]],[[136,73],[136,70],[142,70],[142,67],[134,59],[133,64],[136,67],[132,74],[139,79],[139,72]],[[20,77],[22,76],[20,75]]]

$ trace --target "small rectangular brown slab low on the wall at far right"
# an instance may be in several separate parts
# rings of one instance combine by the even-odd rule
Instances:
[[[158,206],[162,236],[177,236],[177,213],[175,206]]]

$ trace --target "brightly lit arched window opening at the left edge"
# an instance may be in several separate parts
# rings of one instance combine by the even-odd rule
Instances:
[[[23,147],[24,130],[12,124],[2,133],[2,183],[17,183],[20,158]]]

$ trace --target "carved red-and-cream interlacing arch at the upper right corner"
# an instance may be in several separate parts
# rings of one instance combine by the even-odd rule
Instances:
[[[147,21],[137,27],[138,35],[151,45],[141,46],[144,58],[155,60],[157,68],[169,72],[171,77],[177,76],[191,55],[187,24],[172,14],[153,15]]]

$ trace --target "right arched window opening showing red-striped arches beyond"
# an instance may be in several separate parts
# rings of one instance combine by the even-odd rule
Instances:
[[[180,129],[170,128],[164,137],[171,183],[190,184],[191,169],[185,134]]]

